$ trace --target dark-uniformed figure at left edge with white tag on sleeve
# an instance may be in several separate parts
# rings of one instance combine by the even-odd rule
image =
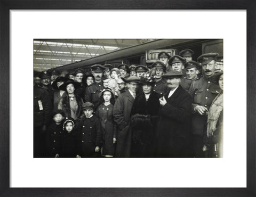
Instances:
[[[34,158],[46,157],[46,130],[52,103],[46,90],[35,83],[34,76]]]

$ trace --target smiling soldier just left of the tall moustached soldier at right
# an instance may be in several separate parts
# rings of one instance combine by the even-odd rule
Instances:
[[[184,67],[186,70],[186,76],[183,76],[180,85],[183,87],[183,89],[185,89],[186,92],[188,92],[192,81],[198,79],[201,65],[196,61],[191,60],[186,62]]]

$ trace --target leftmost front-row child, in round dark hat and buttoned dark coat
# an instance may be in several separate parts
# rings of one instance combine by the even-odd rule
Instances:
[[[52,113],[53,123],[48,127],[46,133],[46,147],[48,157],[58,158],[61,151],[62,121],[65,113],[56,110]]]

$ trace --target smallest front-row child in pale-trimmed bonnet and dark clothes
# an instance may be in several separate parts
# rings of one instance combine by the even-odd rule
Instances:
[[[75,121],[73,118],[66,118],[63,122],[62,135],[62,158],[80,158],[79,156],[79,138],[78,131],[75,128]]]

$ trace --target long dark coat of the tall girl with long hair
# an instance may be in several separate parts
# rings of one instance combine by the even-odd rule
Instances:
[[[113,137],[116,138],[116,124],[113,117],[113,104],[105,106],[100,104],[96,110],[96,116],[100,120],[102,129],[102,155],[115,155],[116,145],[113,144]]]

